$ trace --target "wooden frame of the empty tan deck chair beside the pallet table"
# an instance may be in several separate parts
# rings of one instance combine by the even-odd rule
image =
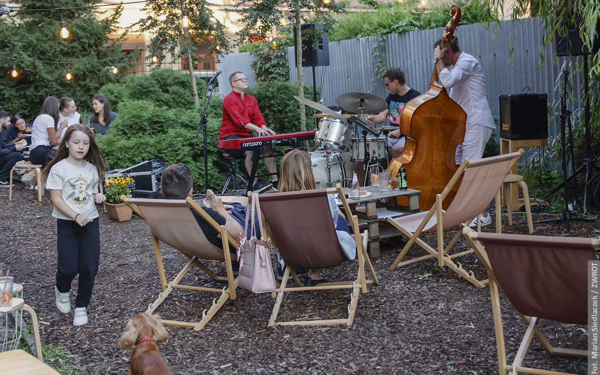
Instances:
[[[452,237],[451,241],[448,242],[448,245],[446,247],[444,247],[443,231],[444,231],[445,227],[443,224],[443,217],[446,214],[446,211],[444,211],[442,209],[442,203],[443,203],[443,200],[446,199],[446,197],[448,196],[448,193],[450,193],[450,191],[452,190],[454,185],[457,184],[458,180],[460,179],[460,177],[463,175],[464,171],[467,168],[484,165],[484,164],[489,164],[490,162],[518,160],[518,158],[521,156],[521,154],[523,154],[523,149],[520,149],[518,152],[512,152],[512,154],[494,156],[494,157],[484,158],[484,159],[479,159],[479,160],[474,160],[474,161],[470,161],[469,159],[463,160],[463,163],[460,164],[460,167],[458,167],[458,170],[456,171],[456,173],[454,173],[454,176],[452,176],[452,179],[448,182],[448,185],[446,185],[446,187],[444,188],[442,193],[436,194],[436,203],[434,203],[433,206],[431,206],[431,209],[427,212],[427,215],[425,215],[425,217],[421,221],[421,224],[419,224],[419,226],[417,227],[415,232],[410,232],[410,230],[407,230],[401,224],[398,224],[396,220],[393,220],[393,219],[388,220],[389,223],[391,223],[394,227],[396,227],[398,230],[400,230],[402,233],[404,233],[404,235],[408,236],[408,238],[409,238],[409,241],[406,242],[406,245],[404,245],[404,248],[400,251],[400,254],[398,254],[398,257],[394,260],[394,263],[392,263],[392,266],[389,269],[391,271],[393,271],[395,268],[400,268],[400,267],[410,265],[410,264],[416,263],[416,262],[422,262],[423,260],[437,258],[437,264],[440,267],[448,266],[450,269],[452,269],[452,271],[456,272],[458,275],[461,275],[462,277],[464,277],[466,280],[468,280],[473,285],[481,287],[481,288],[484,287],[485,284],[487,284],[487,280],[481,280],[481,281],[477,280],[477,278],[475,278],[475,275],[473,274],[473,271],[466,271],[460,262],[454,262],[452,260],[456,257],[460,257],[460,256],[463,256],[466,254],[473,253],[473,249],[471,249],[471,250],[461,251],[460,253],[456,253],[456,254],[450,254],[452,247],[454,247],[454,245],[460,239],[460,236],[463,233],[462,228],[460,228],[457,231],[457,233],[454,235],[454,237]],[[506,173],[508,173],[508,169],[506,170]],[[505,173],[505,175],[506,175],[506,173]],[[496,193],[496,212],[501,212],[500,211],[500,186],[502,186],[503,181],[504,181],[504,179],[502,179],[502,181],[499,183],[497,190],[496,190],[497,191],[497,193]],[[460,191],[460,187],[458,189]],[[458,195],[458,193],[457,193],[457,195]],[[448,209],[451,209],[451,207],[449,206]],[[421,233],[426,229],[425,226],[427,226],[427,224],[429,223],[429,221],[431,220],[433,215],[436,215],[436,218],[437,218],[437,222],[436,222],[437,249],[426,244],[425,241],[423,241],[422,239],[419,238]],[[400,218],[399,220],[402,220],[402,218]],[[466,218],[464,221],[464,224],[469,225],[471,220],[473,220],[472,217]],[[501,215],[496,214],[496,232],[497,233],[502,232],[502,224],[500,223],[500,220],[501,220]],[[480,228],[481,228],[481,223],[478,220],[478,230],[480,230]],[[408,251],[410,250],[410,248],[412,247],[413,244],[417,244],[420,247],[424,248],[429,254],[425,255],[425,256],[405,260],[403,262],[404,257],[406,256],[406,254],[408,253]]]

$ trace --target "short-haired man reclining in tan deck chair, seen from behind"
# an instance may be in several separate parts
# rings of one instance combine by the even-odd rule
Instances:
[[[172,164],[163,170],[161,175],[161,187],[163,188],[163,195],[166,199],[186,199],[192,196],[194,187],[194,176],[191,173],[190,168],[185,164]],[[229,214],[227,209],[230,208],[228,205],[223,205],[221,197],[215,196],[211,190],[206,191],[206,202],[203,207],[204,211],[212,217],[214,221],[219,225],[224,225],[227,230],[227,234],[239,241],[239,233],[244,232],[244,228]],[[209,206],[206,203],[210,201]],[[194,218],[198,222],[200,229],[206,236],[211,244],[218,248],[223,248],[223,241],[221,241],[221,233],[217,229],[207,223],[206,220],[196,211],[192,210]],[[236,248],[230,246],[230,253],[235,254]],[[233,258],[235,259],[235,257]],[[237,272],[239,265],[237,262],[233,262],[233,271]]]

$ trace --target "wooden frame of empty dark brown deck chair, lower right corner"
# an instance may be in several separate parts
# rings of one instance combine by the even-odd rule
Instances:
[[[557,371],[550,370],[541,370],[539,368],[529,368],[523,367],[523,359],[527,354],[527,350],[529,349],[529,345],[533,337],[535,337],[539,343],[542,345],[542,348],[548,355],[557,356],[575,356],[581,358],[587,358],[588,353],[587,350],[577,350],[577,349],[567,349],[562,347],[553,347],[548,338],[544,335],[544,333],[538,327],[538,317],[527,316],[520,311],[517,310],[517,313],[523,319],[523,322],[527,325],[526,332],[524,334],[523,340],[517,350],[517,354],[512,361],[512,364],[507,364],[506,362],[506,349],[504,344],[504,331],[502,327],[502,311],[500,310],[500,297],[498,293],[498,287],[500,286],[496,275],[494,275],[494,270],[491,266],[490,259],[488,258],[488,253],[485,251],[484,246],[479,242],[478,236],[481,236],[480,233],[475,232],[469,227],[463,227],[463,235],[469,242],[469,244],[473,247],[473,250],[477,254],[479,260],[484,264],[485,268],[488,271],[488,280],[490,286],[490,296],[491,296],[491,307],[494,316],[494,331],[496,333],[496,346],[497,346],[497,355],[498,355],[498,365],[500,368],[500,375],[506,375],[508,372],[509,375],[515,375],[517,373],[526,373],[526,374],[542,374],[542,375],[559,375],[559,374],[570,374],[570,373],[562,373]],[[523,237],[533,237],[526,235],[505,235],[505,236],[523,236]],[[562,239],[562,238],[559,238]],[[583,239],[581,239],[583,240]],[[598,238],[587,239],[587,247],[590,248],[590,252],[593,249],[600,249],[600,240]],[[584,247],[585,248],[585,247]],[[587,268],[587,262],[584,266]],[[587,274],[586,274],[587,277]],[[502,289],[502,286],[500,286]],[[587,296],[587,292],[586,292]],[[516,309],[515,309],[516,310]]]

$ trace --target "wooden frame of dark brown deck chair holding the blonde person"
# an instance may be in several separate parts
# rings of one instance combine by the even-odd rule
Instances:
[[[284,263],[286,265],[286,271],[283,273],[283,280],[281,281],[280,286],[275,289],[275,293],[277,293],[277,297],[275,298],[275,305],[273,307],[273,311],[271,313],[271,317],[269,318],[268,326],[278,326],[278,325],[299,325],[299,326],[322,326],[322,325],[337,325],[337,324],[345,324],[347,326],[351,326],[354,320],[354,315],[356,313],[356,305],[358,305],[358,298],[361,293],[367,293],[367,284],[379,284],[379,280],[377,280],[377,274],[373,265],[371,264],[371,260],[367,254],[367,241],[368,241],[368,230],[365,230],[362,234],[359,231],[358,227],[358,217],[356,215],[352,215],[352,211],[350,210],[350,205],[346,200],[346,196],[344,195],[341,185],[337,184],[335,188],[328,188],[327,194],[339,194],[340,199],[344,206],[344,212],[346,212],[346,218],[350,218],[350,227],[352,227],[352,231],[355,233],[353,236],[356,242],[356,258],[358,259],[358,272],[356,274],[356,279],[352,281],[337,281],[330,283],[320,283],[316,286],[304,286],[298,275],[289,263],[284,259]],[[260,197],[259,197],[260,199]],[[263,210],[264,212],[264,210]],[[263,215],[263,218],[265,216]],[[268,227],[268,222],[263,220],[264,233],[268,233],[269,237],[274,241],[274,237],[271,233],[271,230]],[[273,242],[275,247],[277,244]],[[365,265],[368,268],[371,278],[367,279],[365,275]],[[296,283],[296,287],[287,287],[287,281],[292,277],[294,282]],[[331,289],[352,289],[352,293],[350,294],[350,304],[348,304],[348,317],[346,319],[319,319],[319,320],[293,320],[289,322],[277,322],[277,316],[279,314],[279,310],[281,307],[281,302],[283,302],[283,296],[286,292],[301,292],[304,290],[331,290]]]

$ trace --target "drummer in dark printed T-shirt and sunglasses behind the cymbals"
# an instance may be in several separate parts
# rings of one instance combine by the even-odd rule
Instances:
[[[389,125],[400,127],[400,113],[404,106],[421,93],[406,85],[404,72],[400,68],[389,68],[383,73],[382,78],[389,90],[389,95],[385,99],[388,102],[388,109],[383,110],[379,115],[367,116],[367,125],[381,124],[389,115]],[[399,128],[388,133],[388,146],[392,147],[398,142],[404,148],[404,137],[400,136]]]

